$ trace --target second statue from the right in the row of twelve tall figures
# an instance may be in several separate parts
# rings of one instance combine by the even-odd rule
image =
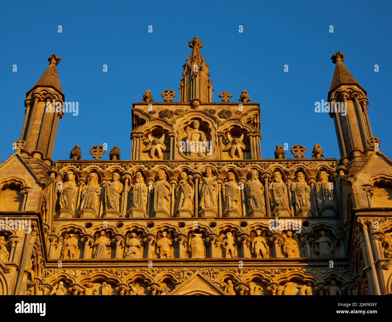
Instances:
[[[307,217],[310,212],[310,187],[305,182],[303,172],[297,172],[294,183],[291,185],[292,203],[296,210],[296,215]]]

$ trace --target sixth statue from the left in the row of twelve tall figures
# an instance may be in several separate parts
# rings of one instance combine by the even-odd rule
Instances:
[[[176,204],[174,206],[174,216],[192,217],[194,199],[193,187],[192,176],[187,175],[186,172],[181,172],[180,181],[178,182]]]

